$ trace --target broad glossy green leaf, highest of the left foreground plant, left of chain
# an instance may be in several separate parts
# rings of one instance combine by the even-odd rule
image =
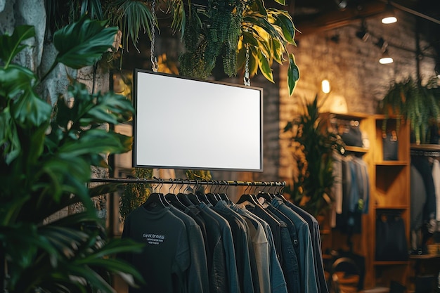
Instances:
[[[53,34],[58,50],[56,61],[79,69],[93,65],[111,48],[117,27],[105,27],[106,22],[83,16],[78,22],[63,27]]]

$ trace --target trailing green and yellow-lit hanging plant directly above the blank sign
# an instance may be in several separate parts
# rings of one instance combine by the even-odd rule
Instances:
[[[229,77],[239,70],[245,72],[247,63],[250,77],[259,70],[273,82],[273,62],[288,60],[287,84],[290,95],[293,93],[299,69],[288,46],[296,46],[297,30],[287,11],[266,8],[262,0],[209,0],[207,6],[190,9],[183,33],[186,52],[180,56],[183,75],[205,79],[221,58]]]

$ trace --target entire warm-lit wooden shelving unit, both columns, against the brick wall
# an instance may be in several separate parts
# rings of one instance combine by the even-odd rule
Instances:
[[[362,233],[353,235],[353,252],[365,257],[364,288],[389,287],[392,280],[406,284],[410,261],[376,261],[376,216],[392,211],[400,214],[406,226],[406,240],[410,239],[410,125],[397,125],[396,119],[387,119],[387,130],[395,130],[399,140],[398,158],[384,160],[382,143],[382,123],[384,115],[365,115],[362,113],[323,114],[332,119],[356,119],[361,131],[368,136],[369,147],[347,146],[347,153],[354,153],[368,164],[370,179],[370,201],[368,214],[362,216]],[[399,122],[400,123],[400,122]],[[439,148],[440,150],[440,148]],[[347,249],[347,236],[332,230],[323,235],[325,243],[332,249]]]

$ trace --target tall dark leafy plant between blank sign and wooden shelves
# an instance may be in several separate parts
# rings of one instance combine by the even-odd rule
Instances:
[[[291,149],[298,169],[293,186],[285,190],[291,199],[313,216],[330,207],[331,188],[335,183],[332,152],[341,150],[344,143],[337,134],[328,131],[321,118],[318,96],[313,101],[303,100],[303,111],[288,122],[284,131],[292,134]]]

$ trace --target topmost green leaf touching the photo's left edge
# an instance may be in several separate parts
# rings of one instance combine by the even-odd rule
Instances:
[[[0,35],[0,60],[3,60],[4,67],[8,67],[11,60],[20,53],[22,49],[26,48],[26,45],[23,45],[22,41],[34,36],[34,27],[30,25],[20,25],[15,27],[11,36],[8,36],[7,34]]]

